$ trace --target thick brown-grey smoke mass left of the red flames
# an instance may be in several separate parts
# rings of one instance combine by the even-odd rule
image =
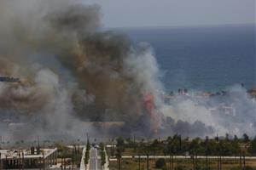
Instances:
[[[97,5],[1,1],[0,7],[0,74],[20,78],[1,82],[1,117],[12,119],[3,133],[76,136],[92,133],[88,121],[124,122],[119,132],[131,133],[154,123],[143,105],[143,95],[160,88],[154,55],[145,44],[132,48],[124,35],[99,31]],[[19,131],[8,131],[11,125]]]

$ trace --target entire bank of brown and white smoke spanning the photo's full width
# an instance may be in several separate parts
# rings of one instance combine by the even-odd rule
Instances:
[[[254,135],[255,101],[243,88],[165,102],[152,49],[100,31],[101,15],[79,1],[0,1],[0,76],[20,78],[0,82],[0,135]],[[216,110],[223,100],[236,112]]]

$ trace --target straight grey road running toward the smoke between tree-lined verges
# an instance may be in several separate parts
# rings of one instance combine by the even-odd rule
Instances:
[[[89,170],[102,170],[101,159],[98,157],[98,150],[96,148],[90,149],[90,167]]]

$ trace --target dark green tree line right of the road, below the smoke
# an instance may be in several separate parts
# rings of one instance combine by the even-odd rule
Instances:
[[[256,156],[256,136],[250,139],[246,133],[241,138],[226,134],[225,137],[206,137],[205,139],[189,139],[175,134],[167,139],[153,141],[119,137],[116,139],[116,144],[118,155],[121,155],[125,149],[132,148],[137,155],[238,156],[243,152],[247,156]]]

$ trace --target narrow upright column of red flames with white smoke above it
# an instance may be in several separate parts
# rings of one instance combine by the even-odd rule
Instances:
[[[159,65],[148,43],[140,43],[139,50],[131,53],[125,59],[125,71],[127,75],[135,77],[137,85],[143,89],[141,100],[145,105],[146,112],[148,112],[151,132],[158,135],[164,119],[158,110],[163,103],[160,96],[160,93],[163,92],[163,86],[160,82]]]

